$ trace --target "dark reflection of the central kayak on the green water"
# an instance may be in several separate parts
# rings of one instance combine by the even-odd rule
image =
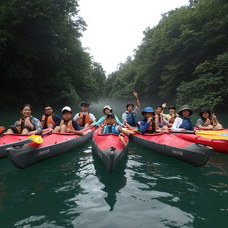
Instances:
[[[116,170],[112,173],[107,171],[106,167],[97,155],[93,154],[93,159],[96,176],[104,185],[102,191],[107,193],[107,196],[104,199],[109,205],[110,211],[112,211],[117,201],[116,194],[120,191],[120,189],[124,188],[127,183],[127,178],[125,176],[127,155],[125,154],[123,156],[120,163],[117,164]]]

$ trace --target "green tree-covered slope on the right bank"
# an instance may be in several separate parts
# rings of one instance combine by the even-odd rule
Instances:
[[[228,1],[190,0],[144,31],[142,43],[106,80],[110,97],[222,107],[228,101]],[[154,99],[153,99],[154,100]]]

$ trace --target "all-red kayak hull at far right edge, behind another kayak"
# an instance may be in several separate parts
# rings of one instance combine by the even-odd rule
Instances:
[[[181,139],[193,143],[203,143],[212,147],[216,152],[228,154],[228,140],[209,139],[195,134],[173,133]]]

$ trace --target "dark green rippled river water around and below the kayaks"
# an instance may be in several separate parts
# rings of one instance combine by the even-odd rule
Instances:
[[[16,116],[1,113],[0,125]],[[227,227],[228,155],[194,167],[131,142],[110,174],[91,149],[23,170],[1,159],[0,227]]]

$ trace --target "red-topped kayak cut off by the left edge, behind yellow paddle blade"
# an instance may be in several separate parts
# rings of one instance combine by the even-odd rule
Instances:
[[[19,146],[31,142],[28,135],[4,135],[0,137],[0,158],[7,157],[8,151],[6,150],[12,146]]]

